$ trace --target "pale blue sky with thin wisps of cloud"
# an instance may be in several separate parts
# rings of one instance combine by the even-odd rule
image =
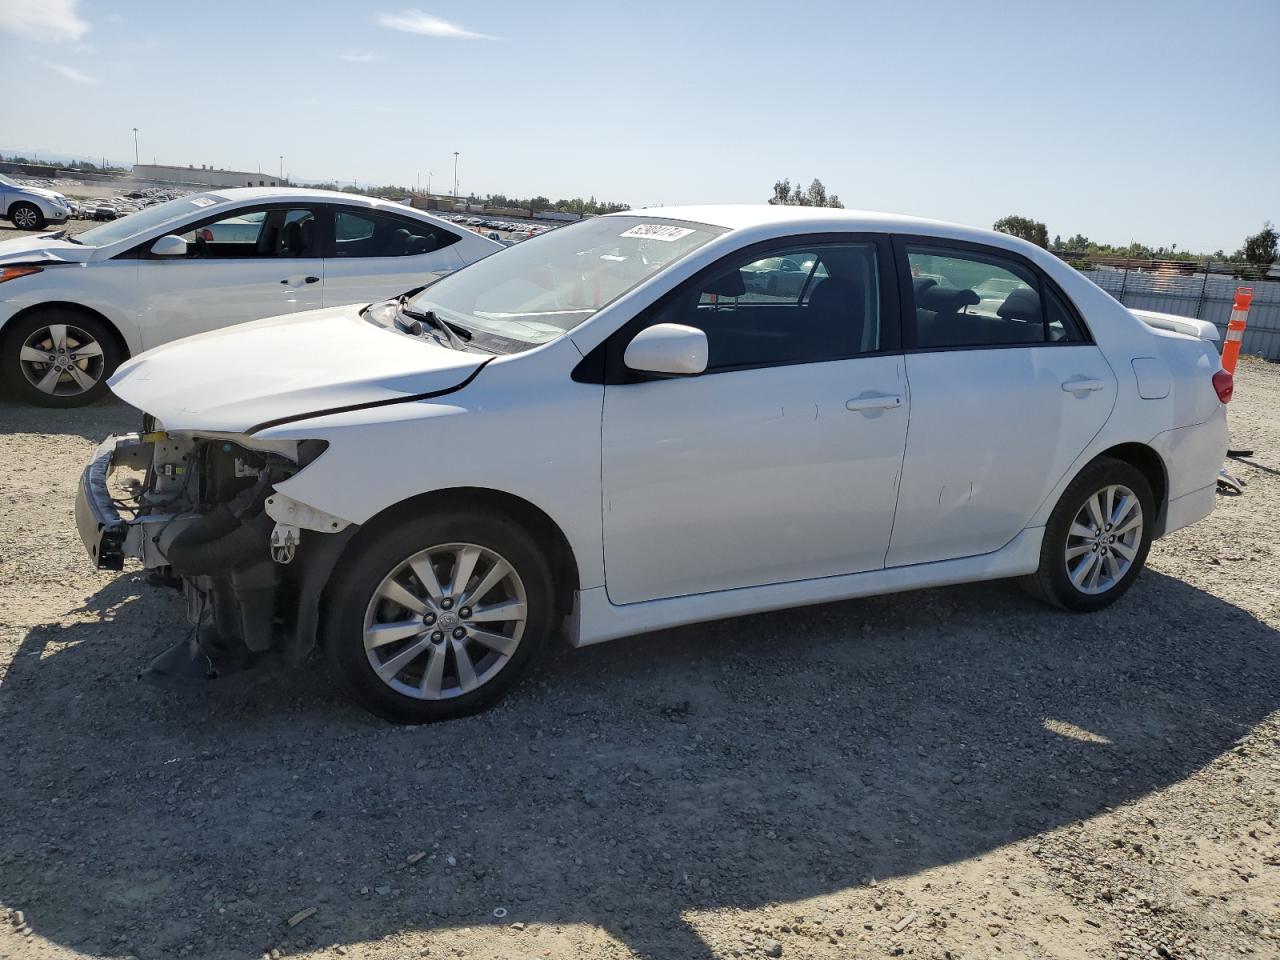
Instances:
[[[1280,220],[1277,72],[1277,0],[0,0],[0,146],[1230,252]]]

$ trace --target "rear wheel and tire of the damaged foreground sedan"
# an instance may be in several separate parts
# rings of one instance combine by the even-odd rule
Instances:
[[[1100,457],[1062,492],[1044,526],[1039,568],[1021,585],[1069,611],[1110,607],[1147,562],[1155,522],[1156,502],[1142,471]]]

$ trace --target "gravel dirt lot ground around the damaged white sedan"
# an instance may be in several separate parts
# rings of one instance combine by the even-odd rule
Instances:
[[[1245,495],[1105,613],[988,584],[556,648],[416,730],[317,667],[137,684],[177,598],[70,516],[136,422],[0,403],[0,956],[1280,955],[1277,366],[1236,379]]]

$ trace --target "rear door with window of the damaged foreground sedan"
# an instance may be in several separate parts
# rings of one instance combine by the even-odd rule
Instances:
[[[887,566],[989,553],[1102,429],[1116,378],[1021,257],[923,238],[895,252],[911,422]]]

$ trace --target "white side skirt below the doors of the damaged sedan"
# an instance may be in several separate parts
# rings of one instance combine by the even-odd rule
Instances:
[[[723,617],[806,607],[815,603],[849,600],[901,590],[969,584],[980,580],[1030,573],[1039,566],[1041,539],[1044,527],[1028,527],[993,553],[979,557],[914,563],[908,567],[870,570],[865,573],[799,580],[790,584],[768,584],[737,590],[718,590],[692,596],[673,596],[623,605],[609,603],[603,586],[579,590],[573,612],[566,622],[570,645],[588,646],[620,636],[646,634],[653,630],[701,623]]]

